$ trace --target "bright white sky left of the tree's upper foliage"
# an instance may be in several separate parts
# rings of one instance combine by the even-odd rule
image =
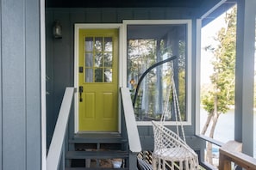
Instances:
[[[209,76],[213,73],[212,66],[210,64],[213,57],[212,52],[206,52],[203,48],[205,46],[217,46],[217,42],[214,37],[218,31],[225,26],[224,21],[225,14],[220,15],[214,21],[211,21],[208,25],[202,28],[201,36],[201,84],[210,83]]]

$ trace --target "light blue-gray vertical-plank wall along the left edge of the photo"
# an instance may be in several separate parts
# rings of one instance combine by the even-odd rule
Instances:
[[[0,169],[41,169],[40,0],[0,8]]]

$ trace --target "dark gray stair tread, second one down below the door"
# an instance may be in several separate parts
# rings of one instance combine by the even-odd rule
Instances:
[[[96,150],[96,151],[68,151],[66,159],[115,159],[128,158],[127,151]]]

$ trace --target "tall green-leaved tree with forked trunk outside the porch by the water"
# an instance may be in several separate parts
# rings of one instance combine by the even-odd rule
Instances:
[[[226,14],[226,27],[218,32],[216,41],[219,46],[212,49],[214,60],[212,61],[214,72],[210,76],[212,88],[203,95],[203,108],[208,112],[208,118],[203,126],[203,135],[211,124],[209,137],[214,137],[215,125],[222,113],[228,112],[228,106],[234,105],[234,68],[235,68],[235,39],[236,39],[236,6]],[[212,146],[207,146],[207,161],[212,163]]]

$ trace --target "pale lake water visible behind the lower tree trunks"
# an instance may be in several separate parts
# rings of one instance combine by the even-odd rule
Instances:
[[[208,113],[201,109],[200,114],[200,129],[203,129],[203,125],[206,122]],[[254,124],[256,124],[256,112],[254,111]],[[255,128],[253,128],[255,129]],[[206,136],[209,136],[209,131],[206,132]],[[256,158],[256,130],[253,132],[254,146],[253,146],[253,157]],[[227,143],[230,140],[234,140],[234,109],[231,109],[225,114],[221,114],[215,127],[215,140],[222,143]]]

